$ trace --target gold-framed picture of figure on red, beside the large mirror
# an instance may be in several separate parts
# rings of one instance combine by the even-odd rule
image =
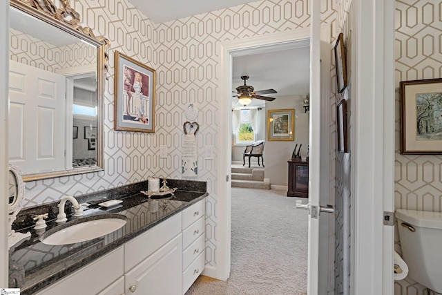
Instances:
[[[153,68],[115,51],[114,129],[155,132]]]

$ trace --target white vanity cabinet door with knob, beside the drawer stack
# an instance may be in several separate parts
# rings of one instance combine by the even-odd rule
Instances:
[[[182,289],[182,234],[125,274],[125,294],[178,295]]]

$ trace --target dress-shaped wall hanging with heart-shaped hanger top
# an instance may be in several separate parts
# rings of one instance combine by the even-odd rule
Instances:
[[[182,149],[182,175],[192,178],[198,176],[198,146],[196,144],[195,134],[200,129],[197,122],[185,122],[183,125],[184,146]]]

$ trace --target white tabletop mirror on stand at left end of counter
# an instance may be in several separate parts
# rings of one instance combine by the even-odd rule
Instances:
[[[25,193],[25,184],[23,178],[21,178],[21,170],[19,166],[13,166],[9,164],[9,189],[8,189],[8,203],[9,203],[9,234],[8,234],[8,249],[17,245],[17,243],[30,237],[30,232],[26,234],[16,233],[12,230],[12,222],[17,218],[17,214],[20,212],[23,206],[23,196]]]

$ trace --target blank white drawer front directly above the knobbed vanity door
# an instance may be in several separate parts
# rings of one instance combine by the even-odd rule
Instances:
[[[135,267],[181,232],[181,212],[171,216],[124,245],[124,271]]]

